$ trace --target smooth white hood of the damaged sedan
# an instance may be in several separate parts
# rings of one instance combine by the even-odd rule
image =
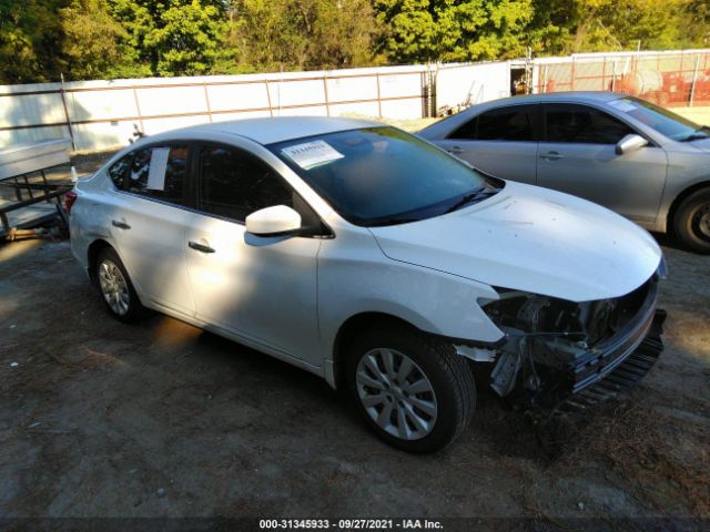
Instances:
[[[371,231],[394,260],[571,301],[628,294],[662,256],[648,232],[604,207],[511,182],[454,213]]]

